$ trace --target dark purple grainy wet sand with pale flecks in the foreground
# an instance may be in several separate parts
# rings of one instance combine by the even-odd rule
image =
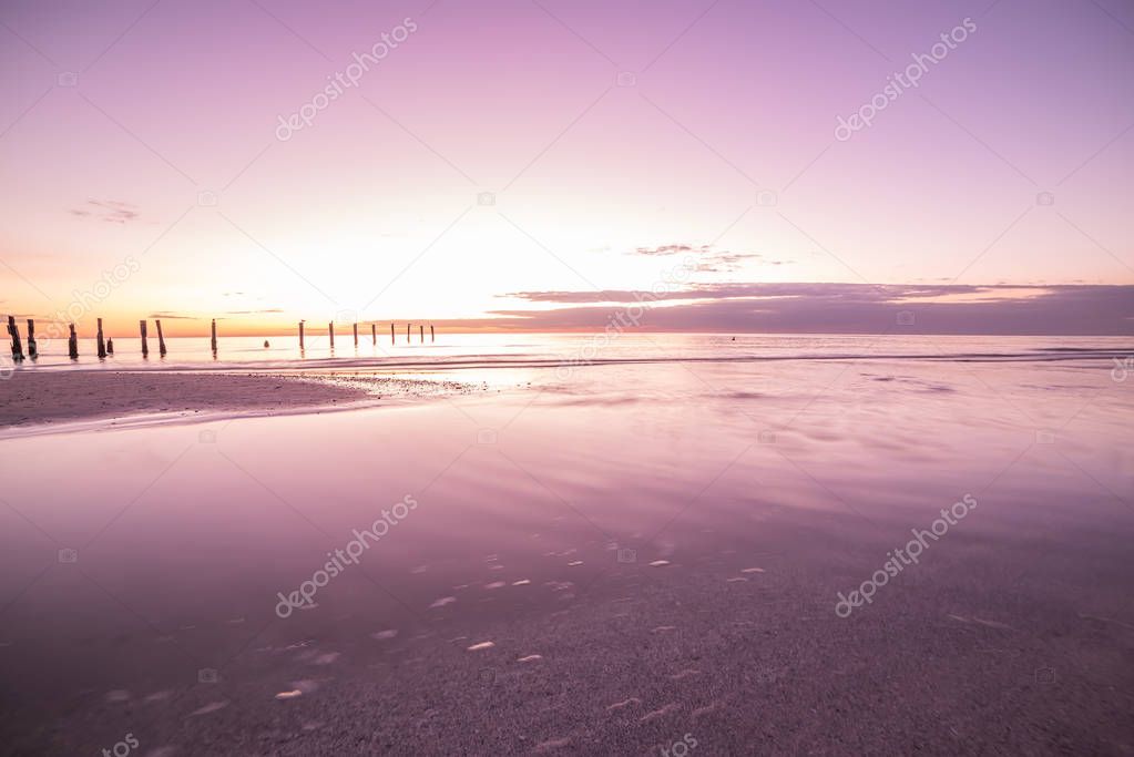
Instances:
[[[736,553],[657,567],[617,563],[599,544],[523,564],[485,555],[465,584],[432,592],[363,565],[354,597],[294,622],[204,611],[164,635],[141,622],[90,635],[88,653],[108,657],[101,686],[78,687],[70,669],[53,725],[6,701],[41,724],[9,721],[7,743],[78,754],[129,731],[143,755],[657,755],[686,734],[710,755],[1134,748],[1134,629],[1075,611],[1122,605],[1122,592],[1069,588],[1097,580],[1086,551],[1128,568],[1122,538],[1075,533],[1051,550],[958,535],[909,584],[840,620],[833,592],[870,569],[858,548],[892,544],[844,516],[773,514],[762,530]],[[441,593],[455,601],[432,606]],[[206,664],[221,672],[198,683]]]

